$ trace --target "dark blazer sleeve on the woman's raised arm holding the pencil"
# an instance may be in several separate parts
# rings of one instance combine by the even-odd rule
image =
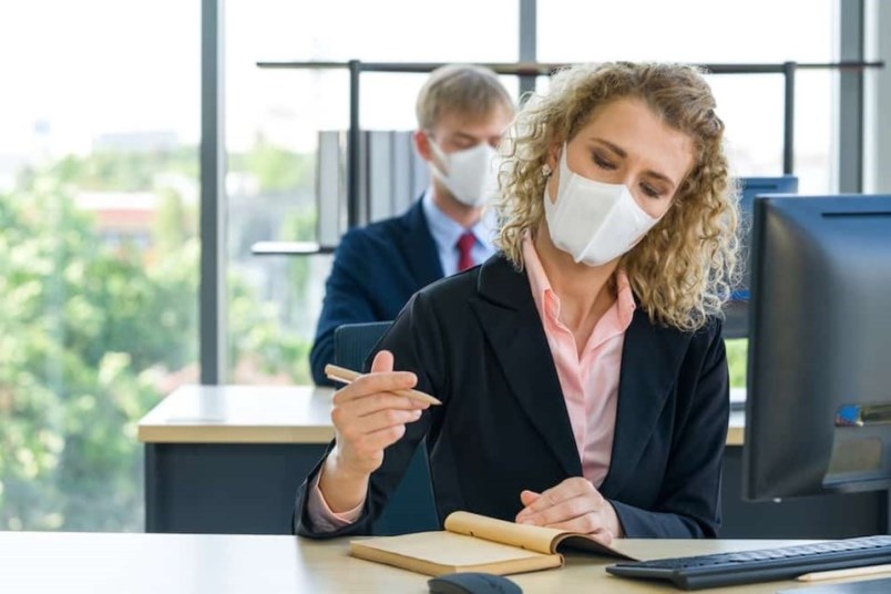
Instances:
[[[444,363],[442,344],[439,320],[427,305],[423,294],[416,294],[383,336],[377,350],[391,351],[395,368],[413,371],[418,376],[417,389],[437,396],[443,403],[440,407],[427,409],[418,421],[406,427],[406,434],[402,439],[387,448],[383,453],[383,463],[371,474],[361,515],[352,524],[332,532],[317,530],[307,513],[307,489],[321,469],[322,458],[297,490],[293,526],[296,534],[315,539],[371,534],[375,520],[382,512],[390,494],[399,485],[414,450],[427,436],[431,424],[440,422],[444,409],[448,407],[448,399],[442,393],[443,378],[448,377],[443,367],[447,363]],[[369,360],[376,352],[369,356]],[[332,448],[334,442],[328,445],[326,457]]]

